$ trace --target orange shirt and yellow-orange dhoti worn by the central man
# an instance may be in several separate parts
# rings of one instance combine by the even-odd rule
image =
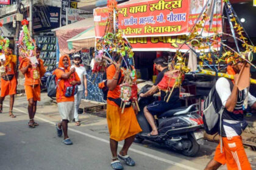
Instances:
[[[112,80],[116,69],[112,64],[107,69],[107,80]],[[121,71],[121,80],[123,79],[123,71]],[[114,90],[108,90],[107,97],[119,98],[121,94],[119,85]],[[124,109],[121,113],[121,108],[113,101],[107,100],[107,124],[110,138],[116,141],[121,141],[141,132],[137,117],[132,106]]]

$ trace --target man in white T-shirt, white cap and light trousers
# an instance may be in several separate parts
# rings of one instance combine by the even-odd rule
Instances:
[[[76,73],[80,78],[81,84],[78,86],[78,91],[77,94],[74,96],[74,121],[76,122],[76,125],[79,126],[80,125],[80,121],[78,118],[78,109],[79,109],[79,105],[81,103],[82,97],[83,97],[83,91],[84,91],[84,87],[85,87],[85,96],[87,96],[88,92],[87,92],[87,72],[85,70],[85,67],[80,66],[80,64],[82,63],[82,59],[81,56],[79,54],[75,54],[74,55],[74,60],[73,63],[74,65],[71,66],[71,68],[75,68],[76,69]]]

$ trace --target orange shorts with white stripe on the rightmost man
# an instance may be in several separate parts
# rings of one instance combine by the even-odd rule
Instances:
[[[241,136],[222,137],[223,147],[221,153],[221,145],[218,144],[215,152],[214,160],[222,165],[227,163],[229,170],[251,170],[251,165],[244,151]]]

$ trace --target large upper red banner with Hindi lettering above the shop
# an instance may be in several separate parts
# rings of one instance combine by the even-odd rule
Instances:
[[[205,1],[205,0],[204,0]],[[194,25],[204,1],[152,0],[118,5],[119,27],[127,37],[186,35]],[[218,0],[222,2],[222,0]],[[222,3],[216,5],[213,23],[206,22],[204,29],[221,32]],[[94,9],[96,37],[104,35],[109,9]],[[211,27],[209,26],[211,25]]]

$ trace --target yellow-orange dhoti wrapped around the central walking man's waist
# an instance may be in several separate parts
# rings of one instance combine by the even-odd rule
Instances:
[[[110,138],[121,141],[141,132],[137,117],[132,107],[124,109],[124,113],[118,106],[107,104],[107,124]]]

